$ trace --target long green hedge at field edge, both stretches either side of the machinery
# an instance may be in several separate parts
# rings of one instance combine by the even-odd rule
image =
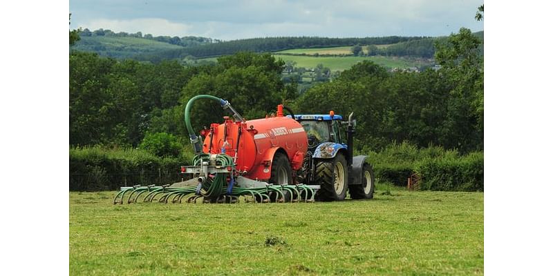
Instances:
[[[417,148],[393,144],[381,152],[366,152],[378,182],[406,186],[407,177],[422,177],[422,190],[484,190],[484,153],[459,155],[442,147]],[[117,190],[120,186],[171,184],[180,180],[180,166],[191,153],[157,157],[146,150],[106,150],[99,147],[69,150],[69,190]]]

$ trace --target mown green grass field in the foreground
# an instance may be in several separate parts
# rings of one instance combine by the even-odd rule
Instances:
[[[483,193],[315,204],[131,204],[69,194],[71,275],[482,275]]]

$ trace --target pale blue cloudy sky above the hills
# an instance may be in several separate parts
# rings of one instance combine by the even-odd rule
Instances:
[[[476,21],[483,0],[70,0],[71,29],[233,40],[444,36]]]

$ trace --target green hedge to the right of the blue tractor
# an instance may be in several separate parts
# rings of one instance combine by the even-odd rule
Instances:
[[[484,153],[460,155],[440,146],[418,148],[404,142],[391,144],[380,152],[365,151],[380,183],[406,186],[407,178],[422,177],[422,190],[484,190]]]

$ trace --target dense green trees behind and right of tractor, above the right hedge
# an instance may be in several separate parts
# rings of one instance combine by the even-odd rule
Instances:
[[[357,118],[357,140],[367,149],[394,141],[460,152],[484,147],[484,72],[480,39],[461,29],[437,44],[440,70],[386,72],[371,61],[357,63],[294,101],[301,112],[335,110]]]

